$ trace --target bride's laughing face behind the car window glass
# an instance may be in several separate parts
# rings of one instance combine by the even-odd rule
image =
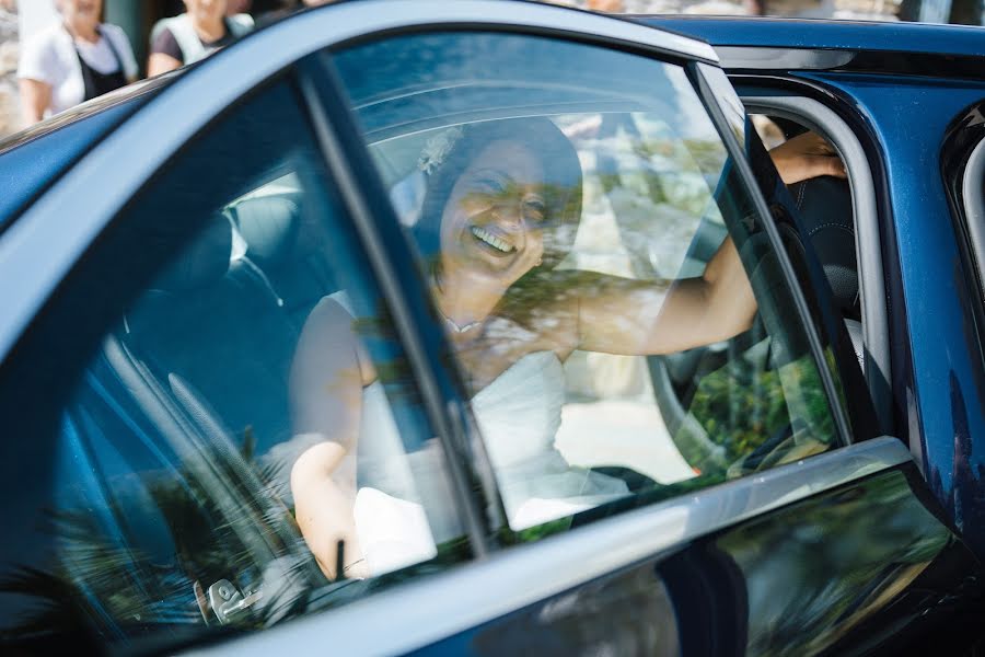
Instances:
[[[544,254],[544,169],[525,146],[494,141],[465,168],[441,216],[444,275],[465,269],[506,286]]]

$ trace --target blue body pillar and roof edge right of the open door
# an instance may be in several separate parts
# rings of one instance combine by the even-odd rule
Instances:
[[[974,46],[980,31],[718,20],[676,21],[676,28],[719,48],[752,111],[826,135],[848,164],[864,357],[867,374],[876,374],[867,378],[881,426],[909,442],[931,489],[981,554],[981,523],[965,520],[975,512],[969,503],[981,495],[978,479],[947,474],[976,471],[971,446],[982,424],[981,404],[965,403],[982,389],[981,295],[969,229],[951,209],[960,173],[950,173],[969,155],[952,148],[953,135],[985,93]],[[839,223],[831,216],[836,207],[820,219]]]

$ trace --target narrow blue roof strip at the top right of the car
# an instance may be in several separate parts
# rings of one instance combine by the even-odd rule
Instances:
[[[712,46],[832,48],[978,57],[985,41],[985,30],[972,25],[764,16],[627,18],[700,38]]]

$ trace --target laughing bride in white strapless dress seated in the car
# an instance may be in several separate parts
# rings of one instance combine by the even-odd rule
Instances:
[[[772,151],[785,182],[844,175],[822,145],[807,136]],[[626,495],[622,481],[569,468],[554,449],[561,364],[576,349],[668,354],[749,328],[756,301],[731,239],[698,278],[556,269],[573,243],[582,176],[573,147],[551,120],[452,128],[425,150],[427,192],[415,238],[510,526]],[[454,519],[436,518],[433,509],[426,516],[415,502],[428,498],[421,486],[447,485],[440,454],[404,454],[352,320],[345,292],[323,299],[305,323],[291,374],[296,434],[308,445],[290,474],[296,517],[332,579],[341,541],[345,574],[366,576],[429,558],[436,541],[461,534]]]

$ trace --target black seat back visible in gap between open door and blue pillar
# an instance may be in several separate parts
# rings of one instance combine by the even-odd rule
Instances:
[[[821,176],[790,185],[790,193],[836,303],[846,316],[855,318],[859,311],[858,262],[848,182]]]

